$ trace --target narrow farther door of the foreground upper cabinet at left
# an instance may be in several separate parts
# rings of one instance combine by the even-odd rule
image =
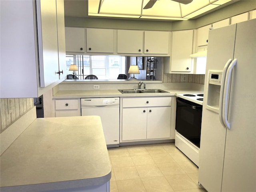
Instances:
[[[66,46],[65,46],[65,23],[64,23],[64,0],[56,0],[57,27],[58,27],[58,58],[59,58],[59,79],[66,76]]]

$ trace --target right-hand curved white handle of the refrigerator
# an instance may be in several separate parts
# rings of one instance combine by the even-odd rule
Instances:
[[[237,59],[234,59],[230,66],[228,67],[227,77],[225,80],[225,89],[224,89],[224,97],[223,97],[223,104],[224,104],[224,113],[223,119],[226,127],[230,129],[230,123],[228,122],[228,104],[229,104],[229,93],[230,93],[230,82],[231,82],[231,75],[233,67],[236,65]]]

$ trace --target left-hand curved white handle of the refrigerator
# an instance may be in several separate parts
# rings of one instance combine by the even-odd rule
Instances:
[[[223,127],[226,128],[224,120],[223,120],[223,94],[224,94],[224,86],[225,86],[225,80],[226,80],[226,75],[227,75],[227,71],[228,71],[228,66],[230,65],[230,63],[232,62],[232,59],[229,59],[223,69],[223,73],[222,73],[222,80],[221,80],[221,85],[220,85],[220,103],[219,103],[219,118],[220,118],[220,123],[222,124]]]

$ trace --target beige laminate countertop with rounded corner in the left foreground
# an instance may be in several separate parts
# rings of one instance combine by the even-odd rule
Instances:
[[[1,192],[96,186],[111,178],[99,116],[37,118],[0,163]]]

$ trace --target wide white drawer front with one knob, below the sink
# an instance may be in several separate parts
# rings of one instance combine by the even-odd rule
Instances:
[[[171,106],[171,97],[123,98],[123,107]]]

